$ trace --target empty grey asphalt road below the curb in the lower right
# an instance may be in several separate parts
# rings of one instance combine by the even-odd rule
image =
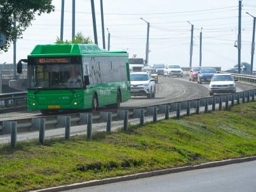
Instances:
[[[256,161],[183,171],[125,182],[68,190],[69,192],[255,192]]]

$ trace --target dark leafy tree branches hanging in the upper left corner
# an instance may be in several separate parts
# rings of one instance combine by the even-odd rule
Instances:
[[[6,43],[0,51],[8,51],[13,40],[22,38],[36,14],[51,13],[54,9],[52,0],[0,0],[0,32],[6,37]],[[16,28],[13,19],[16,20]]]

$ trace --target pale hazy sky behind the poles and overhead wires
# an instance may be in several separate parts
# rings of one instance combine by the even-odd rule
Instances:
[[[202,66],[221,66],[222,70],[238,63],[234,47],[238,35],[239,0],[103,0],[105,48],[110,33],[110,51],[127,51],[129,57],[146,57],[147,21],[149,27],[148,63],[190,66],[191,24],[193,31],[192,66],[199,66],[202,32]],[[25,59],[36,44],[54,43],[60,37],[61,0],[53,0],[55,12],[36,16],[32,26],[16,41],[16,63]],[[251,63],[253,18],[256,0],[243,0],[241,11],[241,62]],[[75,33],[82,32],[94,41],[91,0],[76,0]],[[94,0],[98,45],[103,48],[101,5]],[[246,14],[249,12],[252,16]],[[141,20],[140,18],[143,18]],[[188,21],[190,23],[188,23]],[[108,29],[108,30],[107,30]],[[72,0],[65,0],[63,40],[72,38]],[[0,64],[13,63],[13,46],[0,54]],[[254,55],[254,71],[256,55]]]

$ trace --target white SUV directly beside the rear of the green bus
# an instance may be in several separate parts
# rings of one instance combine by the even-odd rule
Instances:
[[[148,72],[130,73],[130,92],[132,96],[155,98],[155,79]]]

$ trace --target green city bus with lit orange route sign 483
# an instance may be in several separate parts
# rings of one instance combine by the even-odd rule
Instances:
[[[97,44],[38,44],[27,62],[27,109],[95,111],[130,99],[129,55]]]

